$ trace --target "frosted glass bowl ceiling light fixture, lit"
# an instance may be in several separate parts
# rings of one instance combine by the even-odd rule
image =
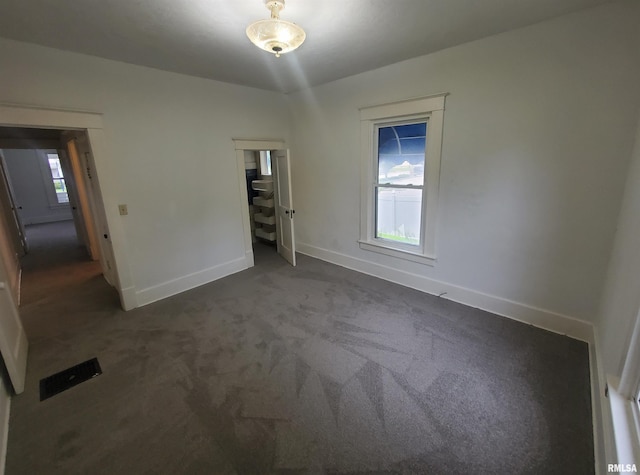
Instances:
[[[274,53],[276,58],[279,58],[281,54],[293,51],[300,46],[307,35],[295,23],[280,19],[284,0],[264,0],[264,4],[271,10],[271,18],[249,25],[247,36],[258,48]]]

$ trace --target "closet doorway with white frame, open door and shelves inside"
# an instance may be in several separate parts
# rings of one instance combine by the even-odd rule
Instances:
[[[289,150],[282,141],[234,140],[247,267],[255,255],[280,254],[296,265],[294,218]]]

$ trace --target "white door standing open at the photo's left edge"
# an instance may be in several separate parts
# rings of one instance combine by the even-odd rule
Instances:
[[[0,253],[0,354],[16,394],[24,391],[28,346],[12,295],[5,257]]]

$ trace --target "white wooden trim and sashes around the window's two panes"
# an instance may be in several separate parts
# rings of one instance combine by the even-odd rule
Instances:
[[[388,256],[433,265],[436,261],[436,219],[440,187],[440,160],[444,122],[444,94],[360,109],[360,248]],[[376,127],[385,122],[426,120],[425,181],[422,193],[420,246],[402,245],[375,237]]]

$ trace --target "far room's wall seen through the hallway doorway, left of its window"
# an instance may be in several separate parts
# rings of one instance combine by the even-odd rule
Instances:
[[[55,152],[55,150],[53,150]],[[72,219],[69,203],[51,206],[41,169],[43,150],[4,149],[2,151],[22,224],[50,223]]]

